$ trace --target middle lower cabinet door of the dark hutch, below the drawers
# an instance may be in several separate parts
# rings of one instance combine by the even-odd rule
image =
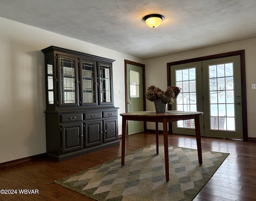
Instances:
[[[102,144],[102,121],[89,121],[85,123],[85,146]]]

